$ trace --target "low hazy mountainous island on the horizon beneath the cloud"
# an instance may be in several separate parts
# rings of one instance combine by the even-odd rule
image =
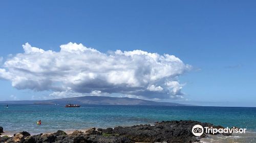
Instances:
[[[179,104],[179,103],[155,102],[155,101],[133,99],[133,98],[114,98],[114,97],[97,97],[97,96],[62,98],[62,99],[42,100],[42,101],[0,101],[0,104],[45,104],[45,105],[60,104],[60,105],[65,105],[67,102],[70,102],[73,104],[90,104],[90,105],[190,106],[190,105]]]

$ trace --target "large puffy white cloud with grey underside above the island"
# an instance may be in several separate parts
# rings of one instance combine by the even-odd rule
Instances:
[[[45,51],[23,45],[24,53],[7,59],[0,78],[17,89],[54,91],[51,96],[72,92],[120,93],[147,99],[182,98],[178,77],[191,66],[173,55],[141,50],[101,53],[82,44],[60,45]]]

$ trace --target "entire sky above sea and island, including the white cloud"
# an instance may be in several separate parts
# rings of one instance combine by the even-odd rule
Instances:
[[[1,1],[0,101],[256,107],[255,1]]]

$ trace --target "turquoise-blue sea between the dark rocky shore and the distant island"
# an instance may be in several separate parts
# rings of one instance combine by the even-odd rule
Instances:
[[[41,126],[36,125],[41,120]],[[256,108],[191,106],[82,105],[0,105],[0,126],[10,133],[32,134],[90,127],[154,124],[166,120],[196,120],[224,127],[237,126],[256,131]]]

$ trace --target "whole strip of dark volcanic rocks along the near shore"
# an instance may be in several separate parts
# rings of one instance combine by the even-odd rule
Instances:
[[[58,130],[55,133],[30,135],[30,133],[23,131],[14,134],[12,137],[2,136],[0,142],[199,142],[200,138],[194,136],[191,131],[195,125],[223,128],[197,121],[162,121],[155,123],[155,125],[119,126],[114,129],[92,128],[86,132],[74,131],[71,134]],[[204,133],[201,138],[206,136],[207,134]]]

